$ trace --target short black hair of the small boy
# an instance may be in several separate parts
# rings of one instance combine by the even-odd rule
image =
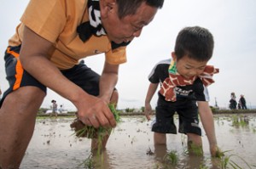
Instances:
[[[212,33],[206,28],[193,26],[179,31],[174,51],[177,60],[189,56],[197,61],[208,61],[212,58],[213,47]]]

